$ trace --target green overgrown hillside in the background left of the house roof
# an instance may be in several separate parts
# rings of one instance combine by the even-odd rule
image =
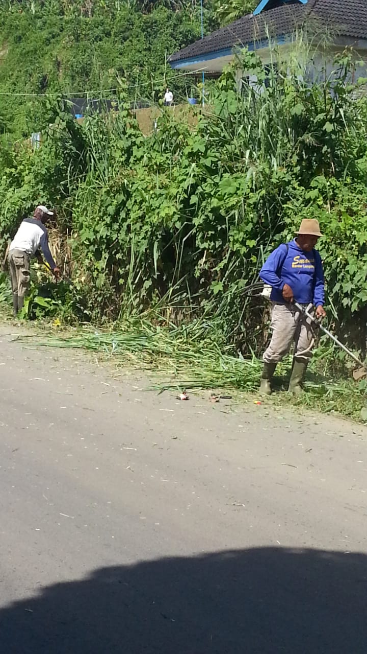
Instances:
[[[204,2],[204,29],[217,26]],[[39,94],[157,101],[170,84],[176,101],[191,81],[167,56],[200,37],[195,0],[0,0],[0,133],[39,131]]]

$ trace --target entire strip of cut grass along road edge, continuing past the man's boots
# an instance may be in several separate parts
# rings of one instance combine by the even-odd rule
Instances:
[[[152,390],[221,389],[231,392],[258,392],[262,363],[255,356],[244,359],[232,356],[229,347],[221,344],[215,324],[192,322],[186,326],[157,326],[150,320],[127,322],[115,330],[83,328],[72,336],[51,334],[42,339],[22,336],[37,347],[84,349],[114,358],[116,364],[133,366],[153,373]],[[287,388],[291,362],[280,364],[275,390]],[[317,356],[306,379],[306,392],[293,398],[284,392],[274,392],[262,398],[268,404],[307,406],[323,412],[334,411],[345,417],[366,421],[364,408],[366,381],[325,379],[316,372]]]

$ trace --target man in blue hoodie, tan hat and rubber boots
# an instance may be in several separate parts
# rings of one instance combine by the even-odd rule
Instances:
[[[260,277],[272,286],[272,339],[264,352],[261,392],[270,395],[276,364],[295,343],[289,390],[302,392],[302,381],[311,358],[315,341],[310,320],[293,307],[298,302],[304,307],[315,306],[317,318],[324,318],[323,264],[315,245],[321,236],[317,220],[302,220],[296,238],[279,245],[261,268]]]

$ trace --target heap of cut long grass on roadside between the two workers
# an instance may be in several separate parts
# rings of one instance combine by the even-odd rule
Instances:
[[[189,326],[157,327],[140,320],[116,331],[85,328],[73,336],[32,339],[37,347],[85,349],[114,357],[121,365],[159,375],[161,390],[231,388],[251,391],[259,385],[261,363],[226,353],[217,345],[212,329],[200,322]],[[228,350],[228,349],[227,349]]]

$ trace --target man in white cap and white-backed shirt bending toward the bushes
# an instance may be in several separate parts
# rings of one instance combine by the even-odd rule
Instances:
[[[12,284],[14,316],[23,308],[25,294],[29,288],[31,281],[29,263],[31,257],[35,256],[39,262],[42,262],[39,249],[42,250],[43,256],[55,277],[57,278],[59,275],[59,269],[48,247],[48,233],[44,226],[53,215],[53,211],[50,211],[44,205],[39,205],[35,209],[33,218],[22,220],[18,232],[16,232],[14,239],[10,243],[8,264]]]

